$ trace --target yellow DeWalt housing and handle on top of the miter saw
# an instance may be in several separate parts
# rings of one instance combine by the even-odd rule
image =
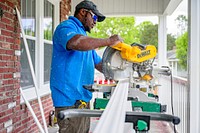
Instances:
[[[121,51],[121,57],[130,62],[140,63],[149,59],[152,59],[156,56],[156,47],[154,45],[128,45],[125,43],[118,43],[112,48]]]

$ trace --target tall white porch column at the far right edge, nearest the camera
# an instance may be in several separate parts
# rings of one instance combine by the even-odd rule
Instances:
[[[200,1],[189,0],[190,133],[200,133]]]

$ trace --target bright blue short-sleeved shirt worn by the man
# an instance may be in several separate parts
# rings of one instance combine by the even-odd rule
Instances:
[[[53,35],[50,88],[55,107],[72,106],[76,100],[88,102],[92,98],[83,85],[94,83],[95,65],[101,58],[95,50],[67,50],[67,42],[77,34],[87,36],[82,23],[70,16],[57,26]]]

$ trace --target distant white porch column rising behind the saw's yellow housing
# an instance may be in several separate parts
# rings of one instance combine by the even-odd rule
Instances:
[[[168,65],[167,63],[167,16],[159,16],[158,25],[158,66]]]

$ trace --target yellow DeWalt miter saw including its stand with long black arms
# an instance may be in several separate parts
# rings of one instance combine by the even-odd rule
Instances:
[[[102,70],[105,80],[96,80],[95,84],[84,86],[90,91],[104,93],[103,98],[95,98],[95,110],[67,109],[61,111],[58,117],[60,119],[86,116],[100,117],[103,110],[99,109],[106,108],[118,81],[128,78],[128,103],[131,103],[132,109],[129,108],[126,111],[126,123],[133,123],[133,129],[142,133],[150,129],[150,120],[164,120],[179,124],[180,119],[178,117],[160,113],[166,111],[166,106],[158,103],[158,96],[152,93],[152,90],[157,86],[152,74],[155,56],[156,47],[153,45],[119,43],[107,47],[102,57]],[[170,71],[164,69],[161,73],[169,75]]]

